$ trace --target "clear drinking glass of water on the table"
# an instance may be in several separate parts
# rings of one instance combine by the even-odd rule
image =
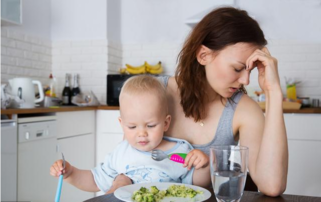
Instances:
[[[211,179],[218,202],[238,202],[243,195],[249,149],[243,146],[210,148]]]

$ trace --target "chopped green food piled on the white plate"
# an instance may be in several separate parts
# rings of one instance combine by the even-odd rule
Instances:
[[[141,187],[135,191],[132,199],[137,202],[159,202],[164,197],[194,198],[197,194],[203,194],[203,192],[196,191],[185,185],[171,185],[166,190],[159,190],[156,186],[151,186],[149,190]]]

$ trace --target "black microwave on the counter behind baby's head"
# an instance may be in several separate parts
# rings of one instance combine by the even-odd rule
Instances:
[[[119,94],[125,81],[135,75],[129,74],[108,74],[107,75],[107,105],[119,106]]]

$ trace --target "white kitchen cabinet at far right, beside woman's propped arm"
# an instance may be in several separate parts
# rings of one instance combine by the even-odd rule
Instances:
[[[321,114],[285,114],[289,145],[286,194],[321,196]]]

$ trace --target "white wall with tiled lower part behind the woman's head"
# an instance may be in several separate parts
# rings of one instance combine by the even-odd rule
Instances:
[[[279,61],[281,85],[285,79],[302,81],[298,96],[321,99],[321,1],[122,1],[123,66],[141,65],[145,60],[164,65],[173,75],[176,57],[191,28],[185,21],[201,16],[215,6],[236,5],[260,23],[268,48]],[[234,4],[235,3],[235,4]],[[260,90],[257,72],[251,75],[250,91]]]

